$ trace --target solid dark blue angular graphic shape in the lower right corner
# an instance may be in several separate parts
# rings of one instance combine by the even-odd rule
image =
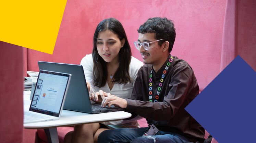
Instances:
[[[185,109],[219,143],[256,142],[256,72],[237,56]]]

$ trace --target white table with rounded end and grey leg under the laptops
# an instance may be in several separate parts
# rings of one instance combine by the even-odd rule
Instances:
[[[24,92],[24,111],[29,110],[31,100],[29,100],[30,93]],[[82,112],[62,110],[59,120],[27,123],[24,124],[24,128],[27,129],[44,129],[49,143],[58,143],[57,127],[72,126],[86,123],[99,123],[107,121],[117,121],[124,118],[131,117],[130,113],[124,111],[100,113],[100,114],[88,114]]]

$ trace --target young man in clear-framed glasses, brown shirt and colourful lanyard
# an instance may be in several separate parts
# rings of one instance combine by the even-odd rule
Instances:
[[[138,71],[132,96],[105,97],[102,106],[126,108],[147,119],[148,128],[103,131],[99,142],[202,142],[204,128],[185,111],[199,88],[191,66],[170,55],[175,28],[167,18],[149,18],[134,42],[145,63]]]

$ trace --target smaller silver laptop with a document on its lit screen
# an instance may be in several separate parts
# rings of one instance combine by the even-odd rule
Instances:
[[[71,74],[40,70],[24,124],[58,120],[69,88]]]

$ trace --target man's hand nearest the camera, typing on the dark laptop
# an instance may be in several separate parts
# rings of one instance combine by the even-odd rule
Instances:
[[[106,105],[108,105],[108,107],[110,107],[111,105],[114,105],[115,107],[126,108],[127,101],[123,98],[110,95],[105,97],[101,102],[102,107],[106,107]]]

